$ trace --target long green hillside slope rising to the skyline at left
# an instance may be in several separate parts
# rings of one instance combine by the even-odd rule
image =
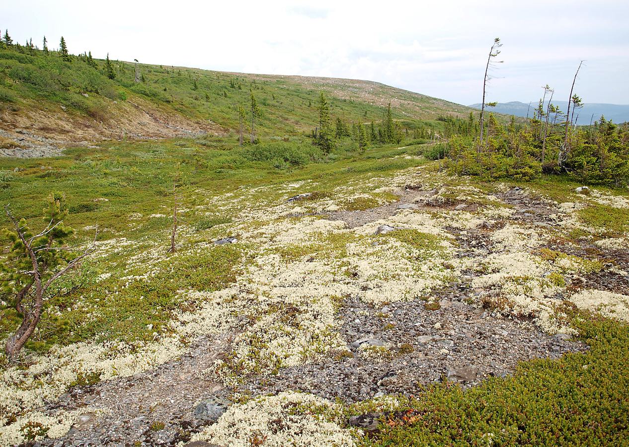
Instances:
[[[191,131],[225,135],[238,127],[238,105],[250,92],[262,109],[261,136],[309,132],[318,119],[320,91],[333,117],[379,120],[389,101],[396,119],[467,115],[469,108],[377,82],[321,77],[253,75],[138,65],[115,61],[108,79],[103,60],[29,48],[0,50],[0,126],[32,128],[69,141],[120,136],[175,136]]]

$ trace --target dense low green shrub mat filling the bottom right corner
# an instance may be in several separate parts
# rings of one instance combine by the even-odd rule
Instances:
[[[588,351],[523,362],[513,376],[465,391],[451,383],[427,387],[361,444],[629,445],[628,328],[593,316],[574,324]]]

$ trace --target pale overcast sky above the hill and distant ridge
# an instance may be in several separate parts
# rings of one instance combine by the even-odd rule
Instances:
[[[566,101],[629,104],[629,1],[3,1],[14,40],[46,35],[70,52],[209,70],[376,80],[460,104],[480,102],[494,37],[503,42],[487,101],[530,101],[545,84]],[[28,6],[26,6],[28,4]],[[51,45],[52,44],[52,45]]]

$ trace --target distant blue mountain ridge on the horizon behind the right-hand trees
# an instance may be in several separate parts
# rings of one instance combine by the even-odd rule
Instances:
[[[507,115],[526,116],[526,113],[528,113],[528,116],[533,116],[533,109],[537,107],[538,103],[539,100],[532,101],[529,107],[529,104],[520,101],[499,102],[498,106],[487,108],[487,110]],[[565,110],[568,108],[567,101],[553,101],[552,103],[555,104],[555,106],[559,106],[562,113],[565,114]],[[545,102],[544,108],[546,108],[547,105],[548,101]],[[480,109],[481,104],[472,104],[469,107]],[[572,110],[570,114],[572,114]],[[586,103],[581,109],[577,109],[574,112],[575,121],[579,126],[589,124],[590,120],[592,122],[598,121],[601,119],[601,116],[604,116],[605,119],[608,121],[611,120],[614,123],[625,123],[629,121],[629,104]]]

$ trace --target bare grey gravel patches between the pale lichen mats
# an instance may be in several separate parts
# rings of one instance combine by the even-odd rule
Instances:
[[[474,202],[440,199],[437,190],[420,186],[407,185],[398,194],[398,202],[365,211],[326,212],[324,217],[354,228],[408,210],[470,211],[479,207]],[[457,258],[472,260],[473,265],[476,258],[482,263],[503,251],[504,246],[492,235],[509,223],[559,236],[555,204],[524,194],[520,188],[505,190],[498,199],[513,209],[508,217],[486,219],[477,228],[446,226],[457,243]],[[381,225],[377,229],[388,231],[396,228]],[[550,241],[548,248],[560,248],[561,238]],[[564,251],[575,255],[602,256],[595,245],[564,245]],[[611,253],[617,255],[613,263],[606,263],[587,279],[575,277],[577,284],[586,281],[592,289],[626,293],[626,251]],[[606,255],[609,258],[610,252]],[[519,361],[557,358],[585,349],[569,334],[542,331],[530,317],[479,305],[501,289],[500,285],[475,287],[480,276],[479,270],[468,268],[449,284],[433,290],[430,301],[372,304],[360,294],[346,296],[338,307],[338,331],[347,340],[345,348],[331,350],[314,361],[280,368],[276,374],[248,375],[235,387],[199,374],[225,356],[233,334],[203,336],[186,354],[148,372],[74,387],[51,403],[48,411],[84,409],[77,424],[64,437],[35,445],[176,445],[211,426],[230,406],[230,399],[238,395],[276,395],[294,390],[330,400],[338,397],[347,403],[385,394],[413,395],[431,382],[454,380],[470,387],[486,377],[508,375]],[[571,277],[566,278],[570,281]]]

